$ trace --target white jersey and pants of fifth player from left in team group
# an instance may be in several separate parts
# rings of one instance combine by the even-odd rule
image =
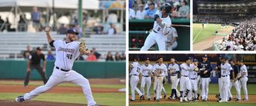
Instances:
[[[181,101],[182,101],[182,97],[186,97],[189,93],[189,91],[191,91],[191,82],[189,80],[189,71],[191,71],[191,67],[190,65],[188,65],[187,63],[182,63],[180,65],[182,72],[181,72],[181,80],[180,80],[180,92],[181,92]],[[187,90],[186,92],[183,92]]]

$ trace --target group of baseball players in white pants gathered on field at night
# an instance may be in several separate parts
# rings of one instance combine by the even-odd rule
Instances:
[[[147,93],[147,100],[150,101],[150,86],[154,82],[154,101],[161,100],[161,91],[164,92],[164,98],[167,93],[164,84],[168,77],[171,78],[171,95],[168,99],[179,99],[183,101],[199,101],[198,88],[201,90],[202,101],[208,101],[209,82],[211,71],[213,70],[207,55],[202,56],[202,62],[192,57],[187,57],[185,63],[178,65],[175,58],[170,59],[168,67],[163,63],[163,58],[159,57],[157,63],[153,66],[150,64],[150,59],[147,58],[143,65],[138,63],[139,58],[133,59],[130,64],[130,87],[131,99],[135,101],[135,91],[140,95],[140,100],[144,100],[144,94]],[[226,56],[220,56],[220,62],[214,69],[219,74],[219,91],[216,94],[219,102],[231,101],[232,94],[231,87],[235,87],[237,91],[236,101],[240,101],[240,87],[244,90],[244,101],[248,101],[247,95],[247,68],[242,60],[237,60],[238,66],[234,64],[234,60],[227,59]],[[140,82],[140,90],[137,84]],[[180,91],[178,91],[178,83],[180,84]],[[147,91],[144,87],[147,86]],[[181,95],[182,94],[182,95]]]

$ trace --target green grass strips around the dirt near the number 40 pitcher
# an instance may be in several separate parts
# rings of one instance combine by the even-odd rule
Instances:
[[[0,81],[0,85],[22,85],[19,81],[9,80]],[[43,83],[41,81],[30,81],[29,86],[39,86]],[[64,83],[58,85],[59,87],[78,87],[75,84]],[[98,88],[124,88],[125,84],[91,84],[91,87]],[[13,88],[15,89],[15,88]],[[3,93],[0,92],[0,100],[14,100],[15,97],[23,93]],[[125,93],[94,93],[93,97],[97,104],[111,105],[111,106],[123,106],[126,103]],[[53,101],[62,103],[77,103],[77,104],[87,104],[85,95],[81,93],[44,93],[40,94],[38,97],[33,98],[31,101]],[[1,104],[0,104],[1,105]]]

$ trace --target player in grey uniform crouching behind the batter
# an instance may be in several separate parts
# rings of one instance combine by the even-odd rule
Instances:
[[[167,42],[166,42],[166,50],[174,50],[177,46],[177,40],[171,44],[171,40],[174,39],[175,37],[178,37],[177,30],[175,27],[169,28],[170,32],[166,35],[167,36]]]

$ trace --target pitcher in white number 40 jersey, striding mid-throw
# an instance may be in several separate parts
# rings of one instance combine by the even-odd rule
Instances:
[[[54,46],[56,50],[56,61],[54,63],[54,71],[50,76],[47,84],[36,87],[33,91],[16,97],[17,102],[28,101],[49,91],[52,87],[57,86],[63,82],[71,82],[81,86],[83,93],[87,99],[88,106],[98,106],[92,97],[92,91],[88,80],[81,74],[72,70],[74,60],[79,55],[90,55],[91,51],[85,50],[85,40],[81,43],[76,42],[77,35],[79,34],[75,29],[67,29],[66,39],[54,40],[50,36],[50,27],[45,29],[47,40],[50,46]]]

